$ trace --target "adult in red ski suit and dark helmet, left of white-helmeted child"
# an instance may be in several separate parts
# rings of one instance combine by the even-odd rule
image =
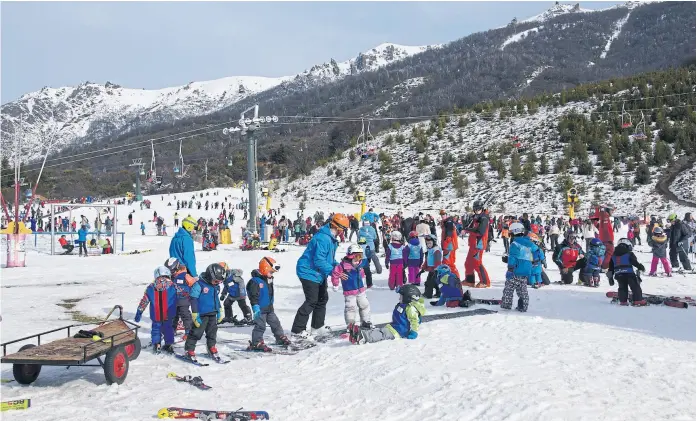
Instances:
[[[479,275],[477,288],[489,288],[491,279],[483,265],[484,251],[489,242],[489,213],[484,209],[484,204],[476,200],[472,205],[474,219],[470,226],[465,227],[469,232],[467,259],[465,259],[465,280],[464,285],[474,287],[474,273]]]

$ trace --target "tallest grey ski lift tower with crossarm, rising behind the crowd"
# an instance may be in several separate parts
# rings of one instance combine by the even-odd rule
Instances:
[[[254,111],[254,117],[245,118],[245,114]],[[257,232],[257,146],[254,132],[261,127],[262,123],[277,123],[277,116],[259,116],[259,105],[253,105],[240,113],[240,120],[237,122],[239,127],[225,128],[223,134],[227,136],[231,132],[240,132],[240,136],[247,136],[247,187],[249,189],[249,219],[247,229],[250,232]]]

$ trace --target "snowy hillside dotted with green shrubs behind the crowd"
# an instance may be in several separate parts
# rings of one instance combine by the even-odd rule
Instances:
[[[565,193],[559,190],[558,174],[552,173],[557,157],[562,154],[563,144],[558,140],[557,122],[564,114],[575,111],[588,113],[595,105],[587,102],[567,103],[560,107],[540,107],[535,114],[527,113],[506,119],[498,118],[497,112],[487,118],[477,118],[477,115],[466,115],[465,118],[476,121],[469,122],[465,127],[458,125],[457,118],[449,119],[444,128],[442,139],[437,134],[428,137],[425,154],[417,153],[412,137],[415,126],[426,130],[430,121],[403,126],[399,130],[376,135],[373,146],[377,151],[390,157],[392,169],[385,175],[380,175],[381,163],[377,159],[350,159],[350,151],[343,153],[341,159],[327,166],[315,169],[307,177],[289,183],[281,192],[287,192],[295,197],[299,192],[306,193],[309,199],[330,198],[337,201],[351,201],[353,194],[349,184],[356,190],[366,192],[369,203],[388,203],[393,184],[396,190],[396,203],[386,205],[393,209],[449,209],[463,212],[465,206],[471,205],[475,199],[481,199],[493,194],[490,201],[494,212],[544,213],[562,215],[565,209]],[[385,145],[385,139],[390,136],[396,139],[404,137],[404,143],[395,140],[391,145]],[[517,136],[518,140],[513,140]],[[460,141],[459,139],[462,139]],[[497,171],[493,170],[487,159],[487,153],[493,147],[503,144],[521,143],[521,166],[526,160],[526,154],[534,150],[538,157],[536,168],[539,170],[539,158],[544,154],[547,158],[548,173],[536,175],[529,183],[519,183],[510,177],[510,158],[504,160],[506,175],[499,180]],[[545,149],[547,148],[547,149]],[[446,176],[434,179],[434,169],[442,165],[445,154],[450,155],[450,162],[443,165]],[[474,162],[465,163],[467,153],[474,154]],[[430,163],[423,168],[419,163],[423,156],[428,155]],[[377,158],[377,156],[376,156]],[[590,156],[593,162],[596,157]],[[482,166],[483,176],[476,176],[476,168]],[[620,163],[621,175],[616,177],[620,186],[634,182],[634,171],[626,171],[625,164]],[[330,169],[339,169],[341,176],[328,176]],[[464,198],[457,198],[453,186],[453,171],[457,169],[462,177],[467,179],[469,188]],[[336,171],[333,171],[334,173]],[[591,202],[610,203],[615,206],[620,215],[641,214],[647,212],[663,214],[668,211],[694,211],[675,203],[667,202],[655,191],[656,181],[661,175],[658,168],[651,167],[652,181],[645,185],[633,185],[631,189],[613,189],[613,175],[606,173],[606,179],[597,180],[596,175],[578,175],[572,169],[571,176],[576,187],[581,188],[581,214],[587,215]],[[349,183],[350,179],[350,183]],[[434,189],[440,197],[434,197]],[[419,194],[422,199],[418,200]],[[667,213],[666,213],[667,215]]]

